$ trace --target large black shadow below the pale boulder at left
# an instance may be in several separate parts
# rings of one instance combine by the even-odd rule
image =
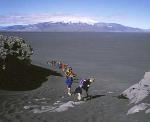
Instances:
[[[6,69],[0,71],[0,89],[11,91],[33,90],[48,80],[48,76],[60,73],[9,57]]]

